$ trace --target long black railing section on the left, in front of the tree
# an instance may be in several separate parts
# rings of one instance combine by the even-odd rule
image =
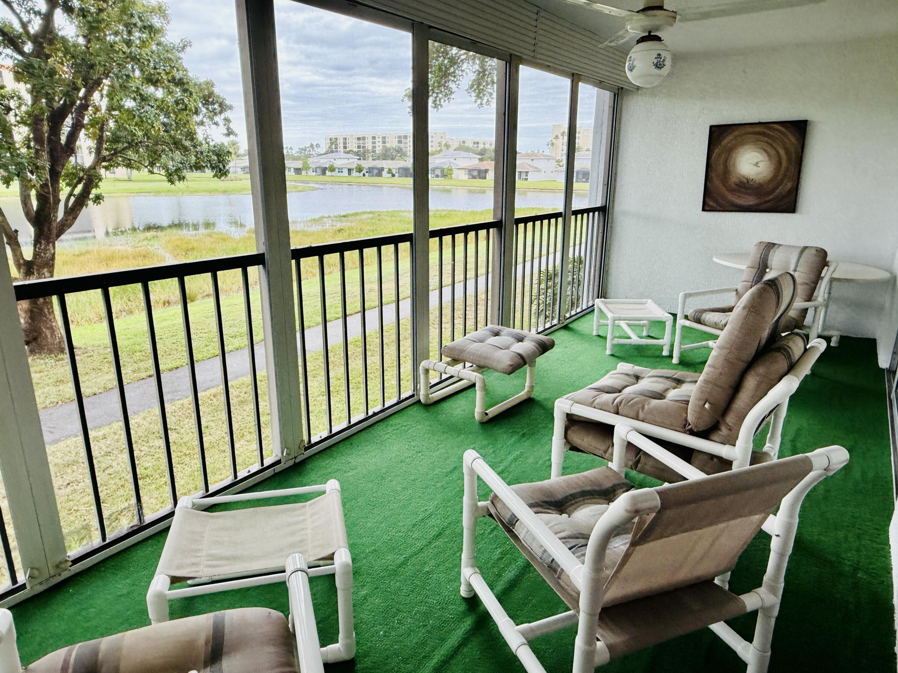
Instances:
[[[70,551],[76,551],[78,547],[95,546],[99,540],[105,543],[110,538],[117,538],[124,531],[142,527],[149,520],[158,520],[160,513],[172,511],[176,505],[180,495],[185,494],[208,494],[213,490],[221,490],[221,487],[227,483],[232,483],[242,475],[246,475],[255,470],[260,469],[266,463],[266,456],[263,443],[263,420],[260,408],[263,402],[267,405],[267,397],[260,400],[260,391],[258,384],[258,366],[255,334],[253,330],[252,319],[252,295],[254,285],[257,284],[256,267],[264,264],[264,255],[261,253],[252,253],[247,255],[235,255],[227,258],[211,258],[198,261],[182,262],[177,264],[159,265],[155,267],[141,267],[127,269],[122,271],[112,271],[102,274],[70,276],[66,278],[48,278],[35,281],[27,281],[15,284],[16,299],[19,302],[28,302],[31,300],[40,300],[43,298],[55,298],[57,302],[57,319],[61,328],[63,340],[66,349],[66,363],[69,370],[70,382],[72,385],[72,403],[75,404],[76,417],[80,439],[84,450],[84,468],[86,471],[87,482],[90,492],[90,501],[92,505],[92,524],[95,525],[95,535],[85,534],[84,529],[89,529],[87,522],[82,522],[82,532],[66,537],[66,546]],[[220,275],[226,272],[239,275],[239,279],[233,278],[231,286],[239,289],[242,293],[242,302],[237,307],[242,309],[245,316],[241,316],[245,324],[246,347],[245,357],[248,360],[250,375],[250,397],[252,407],[252,419],[255,424],[255,460],[251,465],[238,463],[236,443],[234,439],[233,424],[233,401],[232,401],[232,385],[234,383],[233,376],[229,375],[229,361],[233,363],[235,354],[229,354],[225,346],[225,313],[222,307],[222,290],[219,283]],[[251,275],[253,276],[251,278]],[[154,308],[154,287],[153,284],[168,284],[166,288],[166,302],[168,304],[177,303],[180,308],[180,322],[183,330],[183,341],[185,347],[186,364],[181,367],[164,366],[160,354],[160,339],[157,336],[157,313],[159,307]],[[174,286],[172,287],[172,283]],[[135,287],[132,287],[135,286]],[[190,286],[190,289],[189,289]],[[140,385],[139,380],[126,380],[122,363],[122,348],[120,346],[119,330],[117,328],[117,312],[115,306],[115,293],[118,291],[134,290],[139,296],[142,303],[143,312],[145,313],[145,328],[148,338],[147,354],[149,356],[149,371],[151,374],[152,386],[142,387],[142,389],[129,389],[135,385]],[[158,288],[157,288],[158,289]],[[173,292],[172,292],[173,290]],[[101,470],[98,470],[98,456],[95,448],[96,442],[94,433],[102,434],[102,426],[92,426],[90,423],[90,414],[87,400],[92,399],[92,394],[85,394],[82,380],[83,374],[97,374],[96,361],[93,361],[92,371],[82,371],[79,365],[79,350],[81,347],[75,343],[73,336],[73,320],[69,311],[69,304],[72,301],[84,303],[84,293],[99,293],[102,309],[102,319],[106,323],[107,341],[109,348],[109,361],[113,371],[114,388],[118,401],[119,416],[116,418],[121,424],[122,443],[127,462],[127,481],[128,490],[130,492],[128,506],[119,506],[115,511],[109,511],[109,500],[104,499],[101,494]],[[216,464],[210,469],[209,451],[207,450],[206,430],[204,430],[204,414],[210,413],[209,406],[211,402],[201,404],[201,392],[198,383],[198,362],[194,350],[195,338],[193,336],[192,322],[189,306],[194,302],[189,298],[189,294],[194,298],[208,298],[213,304],[213,316],[215,342],[217,346],[216,356],[218,359],[218,370],[220,372],[220,380],[215,381],[216,388],[220,387],[224,408],[221,412],[225,419],[225,443],[226,443],[226,466]],[[74,298],[74,299],[73,299]],[[92,300],[95,301],[93,296]],[[163,307],[169,308],[169,307]],[[173,306],[171,307],[173,308]],[[133,309],[133,307],[132,307]],[[230,310],[228,319],[233,319],[233,307]],[[132,325],[133,327],[133,325]],[[134,334],[129,334],[127,338],[133,342]],[[167,371],[166,371],[167,370]],[[168,386],[163,386],[163,379],[168,374],[183,374],[186,370],[186,395],[183,395],[185,386],[178,385],[177,380],[170,379]],[[138,370],[139,371],[139,370]],[[133,377],[129,377],[132,378]],[[184,377],[181,377],[184,378]],[[180,389],[180,391],[179,391]],[[208,389],[205,386],[204,389]],[[92,393],[98,392],[96,386],[92,386]],[[100,391],[102,392],[102,391]],[[154,398],[154,399],[151,399]],[[190,424],[193,425],[193,434],[196,442],[196,463],[185,460],[183,456],[180,458],[175,456],[172,450],[172,427],[171,427],[171,408],[172,404],[189,398],[190,415],[192,419]],[[129,399],[131,401],[129,401]],[[135,403],[138,410],[129,408]],[[151,506],[150,512],[147,513],[145,499],[142,494],[141,476],[142,468],[147,469],[147,465],[141,464],[141,456],[148,460],[147,451],[148,444],[154,443],[154,440],[147,437],[136,439],[132,429],[132,424],[137,415],[143,413],[147,407],[155,406],[158,412],[158,428],[159,439],[163,453],[164,463],[164,480],[166,481],[164,491],[167,501],[165,504],[156,502]],[[99,407],[98,407],[99,408]],[[180,409],[179,411],[183,411]],[[183,423],[180,423],[183,425]],[[103,472],[114,471],[112,466],[117,459],[113,455],[119,449],[110,448],[109,437],[103,437],[104,453],[102,462],[104,465]],[[179,433],[180,444],[184,442],[184,433]],[[113,442],[114,443],[114,442]],[[139,451],[138,451],[139,450]],[[216,459],[220,456],[216,451]],[[191,478],[190,475],[194,469],[198,468],[198,479]],[[182,478],[176,477],[177,473],[181,473]],[[224,476],[219,479],[217,485],[210,484],[212,476]],[[153,482],[152,486],[159,486],[160,477],[150,476],[144,477],[144,482],[149,480]],[[110,477],[110,483],[106,484],[108,492],[119,492],[122,484],[114,483],[115,479]],[[57,486],[57,491],[59,486]],[[158,489],[157,489],[158,490]],[[57,497],[61,494],[57,493]],[[107,502],[104,503],[104,500]],[[125,513],[123,513],[125,512]],[[63,515],[64,512],[60,512]],[[78,523],[77,521],[68,522],[69,525]],[[110,532],[110,527],[112,531]],[[75,530],[78,530],[75,527]],[[64,526],[64,533],[66,532]],[[3,542],[3,529],[0,527],[0,542]],[[4,549],[5,552],[5,549]]]

